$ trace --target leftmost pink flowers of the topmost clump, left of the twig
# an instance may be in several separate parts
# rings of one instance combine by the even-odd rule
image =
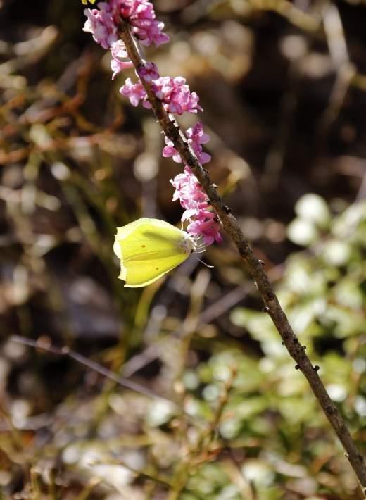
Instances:
[[[101,2],[98,8],[86,8],[87,16],[83,31],[90,32],[97,44],[109,49],[118,40],[117,26],[113,20],[113,11],[109,4]]]

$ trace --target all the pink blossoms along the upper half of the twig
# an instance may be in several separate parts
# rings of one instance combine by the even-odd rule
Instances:
[[[132,27],[132,33],[144,45],[155,43],[156,45],[168,42],[169,37],[163,33],[164,23],[156,20],[153,5],[148,0],[109,0],[101,2],[98,8],[87,8],[84,13],[87,21],[84,31],[91,32],[94,40],[101,44],[104,49],[110,49],[112,54],[111,68],[112,79],[125,68],[132,68],[125,44],[118,38],[118,25],[120,18],[127,20]],[[125,61],[123,61],[125,59]],[[127,59],[127,61],[126,61]],[[190,92],[189,86],[183,77],[160,77],[158,68],[153,63],[146,63],[137,70],[139,81],[133,83],[127,78],[125,85],[120,88],[122,95],[130,99],[132,106],[138,106],[142,101],[144,108],[151,108],[146,91],[142,82],[149,82],[156,97],[162,101],[168,113],[182,115],[188,111],[197,113],[203,111],[198,104],[199,98],[196,92]],[[186,132],[187,141],[201,164],[210,161],[210,155],[205,153],[201,144],[206,144],[210,137],[203,132],[200,122],[196,123]],[[174,144],[165,137],[165,148],[163,156],[172,156],[174,161],[181,162],[178,151]],[[173,201],[179,199],[184,208],[182,220],[188,220],[187,232],[195,239],[200,239],[204,245],[213,242],[222,242],[220,235],[220,222],[217,215],[210,211],[210,205],[206,193],[197,178],[188,166],[184,167],[184,173],[177,175],[171,180],[175,187]]]

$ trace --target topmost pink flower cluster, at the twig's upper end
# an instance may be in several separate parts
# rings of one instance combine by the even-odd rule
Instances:
[[[160,45],[169,41],[168,35],[163,33],[164,23],[156,20],[153,4],[148,0],[110,0],[101,2],[98,8],[85,9],[88,19],[84,31],[91,32],[103,49],[111,49],[113,42],[118,40],[120,18],[128,21],[141,44]]]

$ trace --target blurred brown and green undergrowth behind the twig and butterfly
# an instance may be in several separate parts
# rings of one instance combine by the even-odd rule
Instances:
[[[365,4],[153,3],[147,57],[200,96],[210,176],[365,454]],[[213,269],[117,279],[115,227],[179,224],[181,165],[83,9],[0,1],[0,498],[362,498],[226,235]]]

